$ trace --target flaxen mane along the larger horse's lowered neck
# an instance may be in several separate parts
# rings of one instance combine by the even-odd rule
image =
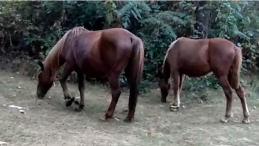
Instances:
[[[50,50],[48,53],[46,59],[44,60],[44,68],[49,69],[50,75],[54,76],[57,70],[60,67],[59,64],[59,55],[62,52],[62,49],[64,47],[64,44],[67,40],[67,38],[73,38],[77,35],[79,35],[83,31],[89,31],[85,29],[84,27],[74,27],[70,30],[68,30],[63,37],[57,42],[57,44]]]

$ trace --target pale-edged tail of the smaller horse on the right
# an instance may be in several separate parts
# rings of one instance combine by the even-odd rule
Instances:
[[[234,89],[237,89],[239,86],[239,76],[240,70],[242,67],[242,51],[235,47],[235,58],[230,67],[230,71],[228,74],[228,80],[230,82],[230,86]]]

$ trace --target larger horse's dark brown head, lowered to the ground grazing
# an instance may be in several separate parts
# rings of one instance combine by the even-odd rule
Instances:
[[[49,69],[44,68],[42,62],[39,63],[38,70],[38,85],[37,85],[37,96],[40,98],[44,97],[49,89],[53,85],[54,78],[51,75],[51,71]]]

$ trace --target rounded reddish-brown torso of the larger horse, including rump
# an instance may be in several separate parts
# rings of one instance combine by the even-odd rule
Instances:
[[[120,28],[83,32],[75,38],[74,58],[88,76],[119,73],[131,57],[135,39],[133,34]]]

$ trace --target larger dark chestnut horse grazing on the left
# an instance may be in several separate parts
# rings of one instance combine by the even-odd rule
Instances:
[[[68,91],[66,80],[76,71],[80,103],[75,103],[79,104],[79,111],[84,108],[84,78],[108,78],[112,101],[105,119],[113,117],[121,93],[119,76],[124,70],[130,86],[129,111],[125,121],[134,118],[144,64],[144,48],[140,38],[122,28],[99,31],[89,31],[83,27],[70,29],[52,48],[44,62],[39,62],[38,97],[45,96],[53,84],[57,70],[63,64],[64,72],[59,81],[66,106],[70,106],[74,101],[74,97]]]

